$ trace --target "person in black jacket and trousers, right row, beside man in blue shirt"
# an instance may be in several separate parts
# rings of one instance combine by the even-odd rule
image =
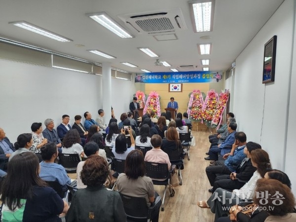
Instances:
[[[234,171],[232,171],[230,175],[221,175],[216,177],[213,191],[215,191],[219,187],[228,191],[232,191],[234,189],[240,189],[243,185],[245,185],[251,179],[254,172],[257,170],[256,167],[252,165],[251,152],[255,149],[260,148],[261,146],[257,143],[248,142],[246,144],[246,147],[244,148],[244,154],[247,155],[247,157],[245,157],[241,161],[241,163]],[[212,190],[209,191],[213,192]]]

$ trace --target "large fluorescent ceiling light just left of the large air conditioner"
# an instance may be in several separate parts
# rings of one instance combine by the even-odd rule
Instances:
[[[106,12],[91,13],[86,15],[121,38],[133,37],[123,27],[121,27],[115,20],[113,20]]]

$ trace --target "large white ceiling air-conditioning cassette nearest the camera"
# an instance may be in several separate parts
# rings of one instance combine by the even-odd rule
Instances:
[[[118,17],[138,34],[174,33],[176,30],[187,29],[180,8]]]

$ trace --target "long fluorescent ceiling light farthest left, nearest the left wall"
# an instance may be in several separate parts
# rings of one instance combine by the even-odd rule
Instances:
[[[45,37],[55,39],[57,41],[62,41],[62,42],[73,41],[73,40],[71,40],[69,38],[60,36],[58,34],[50,32],[50,31],[48,31],[46,29],[42,29],[42,28],[40,28],[40,27],[38,27],[36,25],[33,25],[33,24],[29,23],[29,22],[26,22],[26,21],[9,22],[8,24],[15,25],[17,27],[29,30],[31,32],[37,33],[37,34],[45,36]]]

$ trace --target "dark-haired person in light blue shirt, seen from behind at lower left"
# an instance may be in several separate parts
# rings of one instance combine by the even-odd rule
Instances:
[[[71,179],[65,168],[54,162],[58,155],[57,146],[54,143],[48,143],[41,148],[43,161],[40,163],[39,177],[44,181],[58,181],[62,185],[63,191],[66,192],[68,190],[66,184],[70,185]]]

